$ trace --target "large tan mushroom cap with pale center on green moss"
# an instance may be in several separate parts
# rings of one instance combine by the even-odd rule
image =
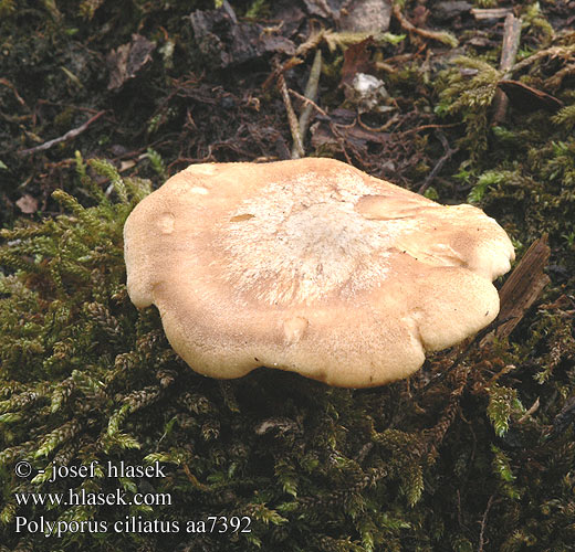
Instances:
[[[380,385],[489,325],[513,246],[471,205],[443,206],[333,159],[194,164],[132,212],[127,288],[155,304],[197,372],[258,367]]]

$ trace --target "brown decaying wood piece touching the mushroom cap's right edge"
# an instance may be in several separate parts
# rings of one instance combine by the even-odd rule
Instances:
[[[501,288],[501,307],[498,320],[505,320],[495,330],[495,336],[509,336],[535,302],[551,278],[543,272],[551,255],[547,236],[531,244],[523,258]]]

